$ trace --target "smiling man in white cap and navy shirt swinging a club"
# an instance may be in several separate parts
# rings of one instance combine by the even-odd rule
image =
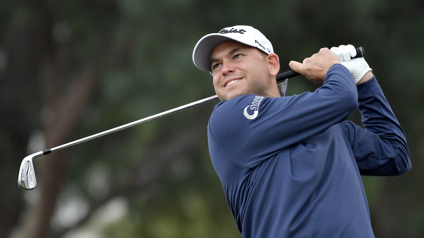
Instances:
[[[347,45],[291,61],[323,84],[280,97],[279,58],[258,30],[224,28],[196,44],[193,62],[211,72],[221,100],[209,152],[243,238],[374,237],[360,176],[396,176],[411,164],[399,122],[355,55]],[[346,121],[358,105],[365,129]]]

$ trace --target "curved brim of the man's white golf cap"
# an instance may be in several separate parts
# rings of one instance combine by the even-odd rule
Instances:
[[[218,44],[226,41],[237,41],[220,33],[208,34],[200,39],[193,50],[193,63],[199,69],[211,72],[210,55]],[[243,43],[243,42],[242,42]],[[245,44],[245,43],[243,43]]]

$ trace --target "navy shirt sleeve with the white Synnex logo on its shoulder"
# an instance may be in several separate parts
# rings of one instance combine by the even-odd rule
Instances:
[[[253,168],[346,120],[356,108],[356,85],[349,71],[335,64],[314,92],[290,97],[243,95],[220,102],[209,120],[209,133],[235,163]]]

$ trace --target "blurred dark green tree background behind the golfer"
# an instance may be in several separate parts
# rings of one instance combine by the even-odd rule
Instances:
[[[321,47],[365,48],[413,165],[363,177],[373,229],[424,237],[423,10],[416,0],[3,1],[0,237],[241,237],[207,149],[218,101],[36,158],[37,188],[17,186],[26,155],[214,95],[192,49],[232,25],[261,30],[280,72]],[[289,95],[317,87],[289,81]]]

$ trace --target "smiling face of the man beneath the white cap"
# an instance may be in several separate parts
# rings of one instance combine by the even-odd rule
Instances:
[[[223,42],[211,53],[211,68],[220,100],[245,94],[278,97],[270,95],[269,89],[276,85],[271,83],[267,56],[257,48],[235,41]]]

